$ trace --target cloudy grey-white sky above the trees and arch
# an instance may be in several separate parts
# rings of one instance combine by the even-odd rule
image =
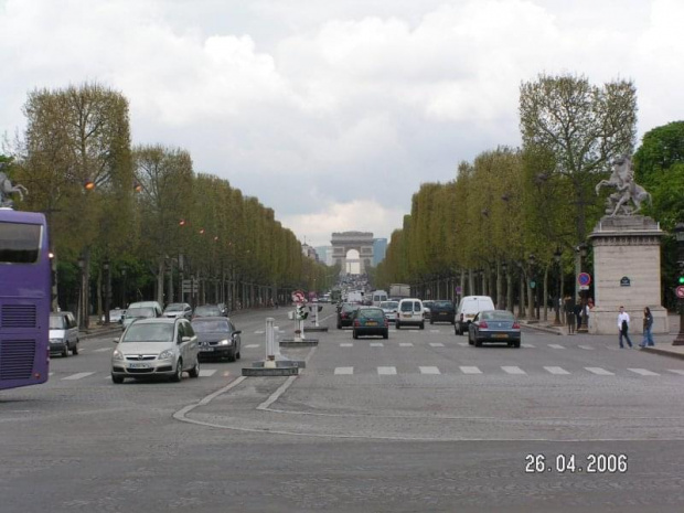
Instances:
[[[34,88],[97,81],[133,143],[270,206],[300,241],[389,237],[420,183],[519,146],[539,73],[632,79],[639,137],[684,119],[681,0],[0,0],[0,132]]]

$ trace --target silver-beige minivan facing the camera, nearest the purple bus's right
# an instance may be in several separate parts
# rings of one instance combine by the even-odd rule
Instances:
[[[111,354],[111,381],[167,376],[180,382],[183,372],[200,377],[200,345],[188,319],[153,318],[130,324]]]

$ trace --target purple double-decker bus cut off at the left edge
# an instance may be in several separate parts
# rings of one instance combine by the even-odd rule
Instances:
[[[47,381],[49,247],[43,214],[0,209],[0,389]]]

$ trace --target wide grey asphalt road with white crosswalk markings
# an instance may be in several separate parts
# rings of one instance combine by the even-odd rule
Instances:
[[[327,307],[321,318],[332,314]],[[0,512],[684,510],[684,361],[611,336],[473,348],[448,324],[329,333],[298,377],[243,360],[182,383],[109,378],[111,336],[0,394]],[[658,341],[656,341],[658,342]]]

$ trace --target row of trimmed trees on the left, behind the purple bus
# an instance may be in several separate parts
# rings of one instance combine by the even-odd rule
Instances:
[[[54,308],[87,319],[136,299],[188,301],[185,278],[199,284],[199,302],[235,309],[284,302],[331,274],[302,255],[271,209],[196,173],[188,151],[132,146],[121,93],[96,83],[36,89],[23,111],[24,137],[3,160],[29,190],[15,206],[46,214]]]

